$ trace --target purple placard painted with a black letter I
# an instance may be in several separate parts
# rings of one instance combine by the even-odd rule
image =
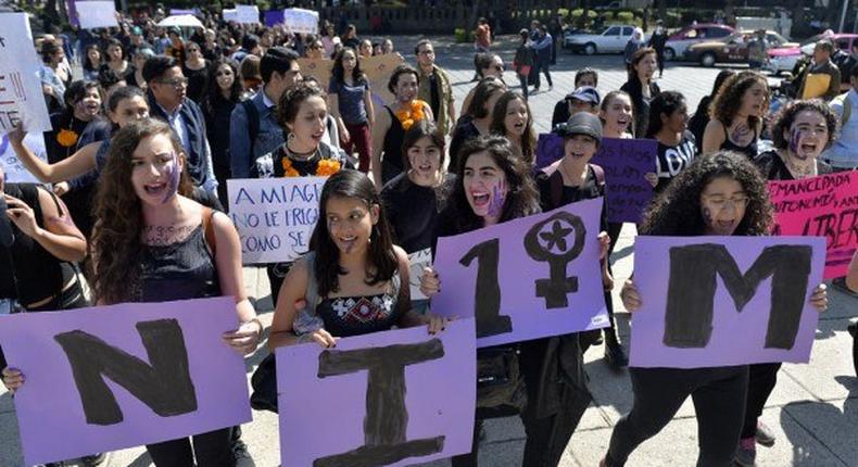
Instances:
[[[280,459],[283,467],[311,466],[316,459],[352,452],[365,445],[364,420],[368,414],[369,400],[373,394],[386,390],[380,387],[395,384],[390,383],[390,378],[379,378],[377,388],[380,390],[367,393],[370,371],[357,369],[320,377],[320,374],[331,369],[320,362],[327,356],[332,358],[326,362],[336,362],[337,356],[333,355],[343,351],[359,352],[392,345],[394,348],[379,358],[387,362],[393,356],[408,358],[405,355],[413,352],[425,355],[404,369],[404,404],[407,408],[404,414],[404,439],[400,438],[399,442],[420,443],[431,440],[429,444],[437,450],[439,437],[443,437],[443,440],[440,452],[396,462],[375,462],[371,465],[413,465],[470,452],[477,397],[474,335],[474,319],[457,319],[449,323],[446,330],[437,336],[429,336],[427,328],[419,326],[344,338],[337,343],[336,349],[329,351],[316,343],[277,349]],[[415,351],[416,346],[422,350]],[[426,352],[427,348],[431,351]],[[328,352],[330,354],[325,355]],[[354,362],[357,359],[355,353],[343,355],[343,361]],[[384,420],[402,416],[401,411],[392,409],[395,404],[393,399],[382,396],[379,401],[379,406],[387,411],[383,413]],[[390,429],[390,425],[387,428]],[[382,453],[395,451],[390,446],[374,447]],[[351,459],[326,465],[358,463]]]

